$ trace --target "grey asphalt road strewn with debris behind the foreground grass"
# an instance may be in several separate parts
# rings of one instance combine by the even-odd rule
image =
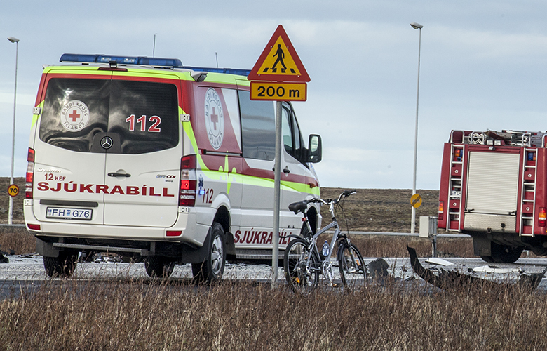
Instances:
[[[43,260],[38,255],[7,256],[9,263],[0,264],[0,300],[19,296],[21,291],[32,291],[39,289],[43,282],[51,279],[46,276],[43,269]],[[367,267],[375,258],[365,259]],[[406,282],[417,277],[412,272],[409,258],[385,258],[388,263],[389,274],[398,282]],[[532,274],[543,272],[547,267],[547,258],[520,258],[514,264],[487,264],[480,258],[446,258],[452,263],[449,266],[442,266],[427,263],[427,258],[420,258],[421,264],[435,272],[442,267],[444,270],[456,270],[462,274],[470,274],[474,277],[492,279],[499,282],[516,282],[521,274]],[[337,269],[335,269],[336,271]],[[483,270],[486,272],[475,272]],[[106,280],[120,281],[124,279],[149,279],[144,271],[144,263],[114,263],[101,261],[100,263],[79,263],[76,271],[70,279],[81,279],[86,281]],[[171,279],[183,284],[191,283],[191,265],[177,265]],[[247,263],[228,263],[224,270],[224,279],[247,280],[262,284],[271,283],[271,267],[269,265],[252,265]],[[62,282],[62,279],[53,279],[55,282]],[[278,271],[278,284],[285,284],[283,268]],[[547,279],[543,279],[537,289],[547,291]]]

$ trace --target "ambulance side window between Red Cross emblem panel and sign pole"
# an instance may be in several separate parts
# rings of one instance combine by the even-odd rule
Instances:
[[[272,161],[276,154],[274,102],[250,100],[248,91],[238,91],[243,157]]]

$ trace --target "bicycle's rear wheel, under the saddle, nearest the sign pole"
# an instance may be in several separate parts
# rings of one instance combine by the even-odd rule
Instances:
[[[309,242],[304,239],[292,239],[285,249],[285,279],[293,291],[309,292],[319,282],[320,260],[308,246]]]

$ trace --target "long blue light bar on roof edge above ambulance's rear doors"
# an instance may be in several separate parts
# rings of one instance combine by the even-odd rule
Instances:
[[[120,65],[146,65],[158,67],[182,68],[182,62],[178,58],[147,58],[144,56],[112,56],[112,55],[86,55],[77,53],[64,53],[59,62],[89,62],[109,63],[115,61]]]

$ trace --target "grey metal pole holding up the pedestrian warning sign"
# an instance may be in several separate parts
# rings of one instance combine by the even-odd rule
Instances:
[[[274,247],[271,252],[271,288],[277,285],[279,258],[279,207],[281,203],[281,105],[276,102],[276,162],[274,166]]]

